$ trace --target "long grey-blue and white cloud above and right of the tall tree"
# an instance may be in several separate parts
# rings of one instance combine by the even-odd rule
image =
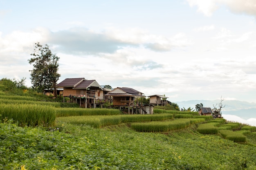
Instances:
[[[95,32],[81,27],[52,32],[49,35],[49,42],[58,44],[56,50],[60,52],[76,55],[115,53],[126,47],[145,47],[152,51],[162,52],[190,44],[184,33],[178,33],[173,37],[164,37],[140,29],[108,28],[105,31]]]

